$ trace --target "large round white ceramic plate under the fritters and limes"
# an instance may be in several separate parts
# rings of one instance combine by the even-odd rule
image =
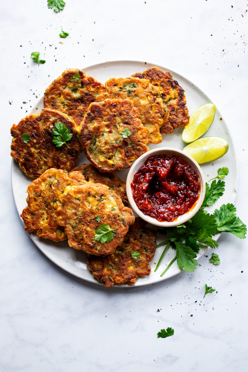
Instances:
[[[109,78],[112,77],[126,77],[134,74],[136,72],[143,72],[146,68],[156,66],[156,64],[138,62],[138,61],[115,61],[115,62],[105,62],[102,64],[97,64],[84,68],[86,75],[91,75],[96,78],[98,81],[105,83]],[[212,102],[209,97],[206,96],[199,88],[197,88],[193,83],[191,83],[186,78],[180,76],[172,70],[168,70],[162,66],[158,66],[162,71],[169,71],[175,80],[178,81],[179,85],[183,87],[186,94],[187,107],[189,109],[189,114],[193,113],[199,106],[204,105],[205,103]],[[62,73],[62,71],[60,71]],[[59,73],[57,74],[59,76]],[[57,78],[53,76],[52,78]],[[46,87],[44,87],[45,91]],[[213,102],[214,103],[214,102]],[[36,110],[38,108],[38,110]],[[43,108],[43,99],[38,100],[33,109],[30,110],[28,114],[40,112]],[[220,121],[222,118],[222,121]],[[20,118],[22,119],[22,118]],[[17,124],[17,123],[16,123]],[[185,143],[181,140],[181,131],[182,128],[177,128],[172,134],[163,134],[163,140],[159,145],[149,145],[150,149],[156,147],[173,147],[179,150],[185,146]],[[221,167],[228,167],[229,174],[225,177],[225,193],[224,195],[212,206],[209,208],[209,212],[212,213],[215,208],[219,208],[223,203],[233,203],[236,196],[237,182],[238,182],[238,163],[236,157],[236,150],[233,144],[232,137],[229,133],[228,127],[225,124],[223,116],[216,109],[215,119],[213,124],[210,126],[207,131],[207,136],[218,136],[223,137],[228,141],[229,150],[226,155],[224,155],[219,160],[216,160],[214,163],[208,163],[202,165],[202,170],[205,176],[206,181],[215,177],[217,170]],[[77,162],[77,166],[80,166],[83,163],[88,163],[87,158],[82,153]],[[126,180],[129,169],[125,169],[121,172],[118,172],[118,176]],[[25,174],[20,170],[18,163],[13,159],[12,160],[12,190],[16,203],[16,208],[19,215],[22,213],[23,208],[26,207],[26,197],[27,197],[27,187],[32,182],[32,179],[26,177]],[[155,229],[155,226],[148,225],[148,227]],[[23,234],[24,234],[23,230]],[[55,243],[52,240],[42,239],[37,237],[35,234],[29,233],[30,238],[36,244],[36,246],[50,259],[52,262],[56,263],[62,269],[67,272],[77,276],[78,278],[87,280],[89,282],[102,285],[96,280],[91,271],[87,268],[86,262],[86,253],[83,251],[74,250],[68,246],[67,241],[62,241]],[[220,234],[216,236],[216,239]],[[157,244],[165,240],[165,237],[157,234]],[[177,275],[181,272],[177,263],[174,262],[173,265],[168,269],[164,276],[160,277],[160,274],[167,267],[168,263],[174,258],[175,251],[171,248],[168,249],[167,253],[162,259],[160,267],[154,273],[156,263],[158,262],[159,257],[164,249],[164,246],[161,246],[157,249],[153,261],[151,264],[151,274],[149,276],[140,276],[134,286],[148,285],[151,283],[160,282],[162,280],[171,278],[174,275]],[[197,254],[197,260],[203,256],[208,248],[201,248],[200,252]],[[115,284],[118,287],[132,287],[131,285],[126,284]]]

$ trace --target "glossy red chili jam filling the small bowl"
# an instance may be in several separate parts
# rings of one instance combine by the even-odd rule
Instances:
[[[200,180],[186,161],[174,155],[151,155],[131,184],[138,208],[158,221],[174,221],[189,211],[200,194]]]

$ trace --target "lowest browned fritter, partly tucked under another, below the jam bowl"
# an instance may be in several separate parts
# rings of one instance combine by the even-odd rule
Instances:
[[[147,222],[140,217],[129,227],[124,241],[116,250],[106,257],[90,255],[87,258],[88,268],[95,278],[105,287],[115,283],[134,284],[139,275],[149,275],[149,262],[156,250],[154,231],[145,228]],[[141,256],[134,259],[131,252],[138,251]]]

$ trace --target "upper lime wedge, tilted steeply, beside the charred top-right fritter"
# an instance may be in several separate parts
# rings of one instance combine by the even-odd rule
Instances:
[[[190,116],[189,124],[183,128],[182,140],[190,143],[198,140],[206,133],[215,118],[216,107],[207,103],[196,109]]]

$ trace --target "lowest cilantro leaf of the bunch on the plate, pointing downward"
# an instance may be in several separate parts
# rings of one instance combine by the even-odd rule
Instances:
[[[175,241],[175,246],[177,250],[177,264],[180,269],[186,272],[194,271],[198,265],[195,260],[196,253],[185,243]]]

